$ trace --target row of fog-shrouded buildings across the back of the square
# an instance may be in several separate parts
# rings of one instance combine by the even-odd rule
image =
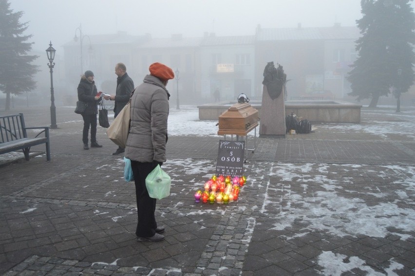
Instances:
[[[169,81],[170,105],[202,104],[235,100],[240,93],[262,96],[264,67],[269,61],[281,64],[287,74],[288,99],[309,97],[340,99],[350,92],[345,75],[357,58],[357,27],[275,28],[257,27],[253,36],[169,38],[114,35],[84,37],[83,43],[64,45],[68,85],[76,87],[82,71],[92,70],[98,89],[113,93],[114,66],[123,62],[135,85],[149,73],[149,65],[162,62],[178,72]],[[82,46],[82,55],[81,55]],[[82,66],[81,66],[82,62]]]

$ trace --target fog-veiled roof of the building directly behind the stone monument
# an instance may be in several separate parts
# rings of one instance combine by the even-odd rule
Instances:
[[[357,39],[360,36],[358,27],[319,27],[319,28],[275,28],[257,29],[257,41],[275,40],[330,40]]]

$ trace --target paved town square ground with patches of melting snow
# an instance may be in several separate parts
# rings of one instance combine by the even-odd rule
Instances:
[[[28,126],[47,122],[24,112]],[[321,124],[258,138],[229,204],[193,199],[215,171],[220,137],[172,136],[171,194],[156,210],[166,240],[151,243],[135,240],[134,186],[116,147],[99,128],[104,147],[83,150],[71,115],[51,130],[52,161],[0,167],[0,274],[415,275],[413,133]],[[389,118],[363,116],[362,125]]]

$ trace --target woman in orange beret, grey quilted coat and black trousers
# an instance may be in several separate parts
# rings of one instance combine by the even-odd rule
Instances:
[[[167,118],[170,94],[166,89],[174,78],[171,68],[161,63],[150,65],[131,99],[131,126],[125,157],[131,160],[135,181],[138,222],[135,235],[138,241],[161,241],[164,227],[157,226],[154,212],[156,199],[149,196],[146,178],[157,166],[166,162]]]

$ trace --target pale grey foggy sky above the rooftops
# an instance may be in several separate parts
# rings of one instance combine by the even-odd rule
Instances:
[[[334,22],[354,26],[361,18],[360,0],[10,0],[29,22],[33,49],[44,51],[52,40],[57,51],[75,36],[84,35],[202,37],[254,35],[255,28],[327,27]],[[77,32],[79,36],[79,32]],[[61,53],[62,53],[61,52]]]

